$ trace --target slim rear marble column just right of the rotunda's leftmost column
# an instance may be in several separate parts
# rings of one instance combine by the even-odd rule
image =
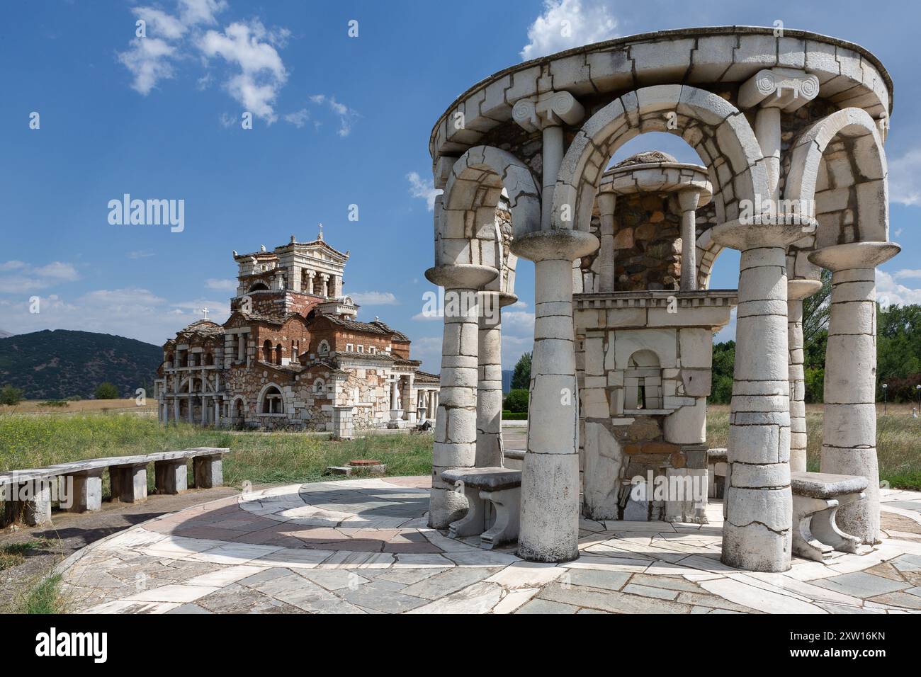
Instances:
[[[502,466],[502,309],[514,294],[480,292],[478,382],[476,388],[476,467]]]

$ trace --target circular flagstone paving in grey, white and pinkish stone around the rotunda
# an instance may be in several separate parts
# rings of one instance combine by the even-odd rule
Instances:
[[[921,493],[883,491],[883,543],[760,574],[719,561],[719,503],[703,526],[582,520],[581,556],[542,565],[428,529],[428,485],[292,484],[169,513],[65,560],[65,600],[79,613],[921,613]]]

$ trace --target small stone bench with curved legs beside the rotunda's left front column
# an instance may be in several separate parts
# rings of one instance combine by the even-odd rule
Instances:
[[[458,468],[442,471],[441,479],[460,489],[470,506],[464,517],[449,524],[450,538],[479,535],[480,547],[486,550],[518,540],[521,471]],[[492,519],[487,504],[493,508]]]

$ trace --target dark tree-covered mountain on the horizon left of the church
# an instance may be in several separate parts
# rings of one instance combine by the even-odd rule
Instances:
[[[163,350],[109,333],[54,331],[0,338],[0,386],[21,388],[29,400],[91,397],[99,383],[114,383],[122,397],[137,388],[153,393]]]

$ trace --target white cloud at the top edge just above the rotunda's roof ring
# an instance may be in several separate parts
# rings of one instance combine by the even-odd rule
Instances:
[[[611,40],[617,19],[599,0],[544,0],[543,13],[528,28],[521,59],[528,61],[573,47]]]

